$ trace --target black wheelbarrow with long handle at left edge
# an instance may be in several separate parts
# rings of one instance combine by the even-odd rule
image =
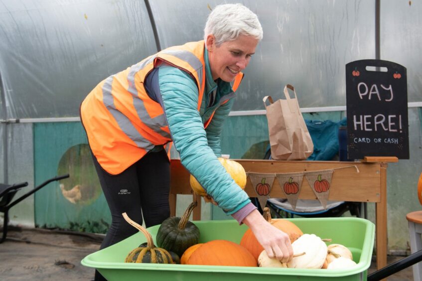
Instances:
[[[8,220],[9,220],[8,213],[9,213],[9,209],[11,207],[13,207],[14,205],[16,205],[17,203],[19,203],[20,201],[22,201],[26,197],[32,195],[33,193],[35,193],[36,191],[38,191],[42,187],[46,186],[50,182],[56,181],[56,180],[60,180],[60,179],[64,179],[64,178],[68,178],[68,177],[69,177],[69,174],[50,178],[49,180],[46,180],[45,182],[41,183],[39,186],[36,186],[31,191],[23,194],[22,196],[20,196],[19,198],[17,198],[13,202],[12,202],[12,200],[13,200],[13,197],[16,194],[16,192],[19,189],[27,186],[28,183],[27,182],[22,182],[22,183],[16,183],[16,184],[11,184],[11,185],[10,184],[2,184],[2,183],[0,183],[0,212],[1,213],[4,213],[3,235],[2,235],[2,238],[0,240],[0,244],[3,243],[3,241],[6,239],[6,235],[7,235],[7,224],[8,224]]]

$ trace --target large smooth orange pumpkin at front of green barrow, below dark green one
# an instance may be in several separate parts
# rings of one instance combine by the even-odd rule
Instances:
[[[257,260],[239,244],[212,240],[200,244],[187,259],[186,265],[256,267]]]

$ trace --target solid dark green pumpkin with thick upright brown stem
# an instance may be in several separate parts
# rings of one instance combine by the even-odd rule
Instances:
[[[155,237],[158,247],[181,257],[187,248],[198,244],[199,229],[194,223],[188,221],[192,210],[197,205],[196,201],[192,202],[181,218],[170,217],[161,223]]]

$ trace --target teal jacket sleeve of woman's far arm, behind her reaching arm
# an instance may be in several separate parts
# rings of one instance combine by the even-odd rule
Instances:
[[[210,124],[205,132],[207,134],[208,145],[214,151],[217,157],[221,156],[220,136],[223,130],[223,124],[232,109],[233,99],[221,105],[214,113]]]

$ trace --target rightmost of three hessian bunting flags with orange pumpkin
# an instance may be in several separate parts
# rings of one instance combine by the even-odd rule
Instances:
[[[327,169],[305,173],[309,186],[312,188],[313,193],[316,195],[319,202],[321,202],[324,209],[327,208],[333,172],[334,169]]]

